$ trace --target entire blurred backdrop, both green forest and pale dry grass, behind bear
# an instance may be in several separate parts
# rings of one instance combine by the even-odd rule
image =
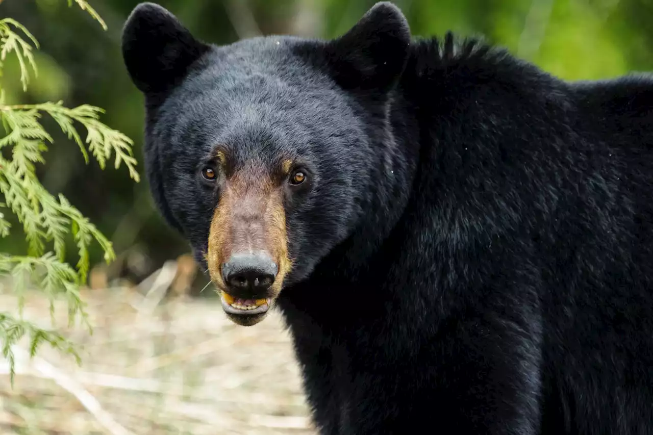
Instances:
[[[20,87],[18,65],[12,56],[1,86],[9,103],[63,100],[67,106],[88,103],[104,108],[104,123],[135,141],[142,174],[143,101],[127,76],[119,46],[121,27],[138,1],[89,3],[106,21],[108,31],[78,8],[69,8],[67,0],[0,0],[0,16],[18,20],[40,42],[40,50],[35,52],[39,76],[32,80],[29,91],[24,93]],[[229,44],[271,33],[336,37],[375,2],[157,3],[176,14],[200,39]],[[414,35],[443,35],[447,30],[482,35],[567,80],[653,70],[653,0],[394,3],[406,14]],[[86,294],[99,327],[94,338],[71,332],[90,349],[85,354],[86,371],[80,372],[54,354],[47,354],[43,358],[50,359],[42,362],[50,361],[63,375],[73,376],[78,387],[97,399],[109,420],[107,423],[96,415],[92,406],[61,385],[61,379],[25,365],[24,375],[31,378],[19,377],[17,387],[0,394],[0,428],[7,433],[313,433],[305,419],[298,372],[279,319],[247,332],[233,329],[214,302],[207,300],[214,293],[202,291],[208,280],[195,273],[187,244],[154,210],[144,176],[135,184],[124,168],[100,170],[93,161],[85,165],[77,146],[57,135],[57,128],[48,122],[44,121],[55,140],[46,154],[46,165],[39,169],[40,179],[52,193],[63,193],[112,240],[118,261],[106,268],[99,248],[92,252],[97,267],[91,272],[90,290],[95,291]],[[0,240],[0,250],[24,252],[22,233],[14,231]],[[70,260],[76,261],[74,257]],[[165,282],[165,272],[167,285],[156,287],[157,279]],[[180,281],[180,274],[185,278],[174,284],[174,280]],[[161,302],[171,287],[183,293],[183,302]],[[161,297],[156,296],[159,293]],[[141,305],[130,302],[133,297],[155,302],[146,304],[151,309],[143,308],[142,301],[138,302]],[[121,304],[127,308],[120,308]],[[41,309],[47,313],[46,306],[40,307],[38,302],[31,307],[35,318],[43,317]],[[169,372],[158,371],[163,367]],[[36,378],[45,383],[35,386]],[[195,385],[194,393],[185,395],[183,389],[190,383]],[[164,391],[161,385],[170,388]],[[286,417],[290,419],[284,420]],[[111,426],[111,419],[117,426]]]

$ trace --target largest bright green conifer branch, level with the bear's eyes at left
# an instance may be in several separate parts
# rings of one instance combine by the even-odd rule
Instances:
[[[101,123],[99,114],[103,111],[95,106],[67,108],[61,102],[0,106],[0,116],[9,131],[7,136],[0,138],[0,148],[13,145],[12,161],[0,160],[0,172],[4,167],[7,168],[4,180],[0,176],[0,191],[5,193],[8,206],[24,225],[29,252],[31,255],[41,255],[44,241],[53,240],[57,257],[63,259],[65,237],[71,228],[78,248],[79,276],[83,277],[82,282],[85,282],[89,269],[88,248],[93,240],[103,248],[106,261],[112,261],[115,254],[110,242],[86,217],[63,196],[60,196],[57,202],[37,180],[34,164],[44,162],[43,153],[47,150],[44,142],[52,142],[52,137],[39,123],[40,112],[50,114],[88,159],[88,153],[74,127],[74,121],[84,125],[88,131],[88,149],[100,167],[104,169],[106,161],[115,154],[116,169],[124,163],[131,178],[138,182],[140,178],[136,171],[137,162],[131,148],[133,142],[119,131]],[[39,219],[33,217],[35,214]]]

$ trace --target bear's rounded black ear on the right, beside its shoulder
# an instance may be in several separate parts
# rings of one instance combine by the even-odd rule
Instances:
[[[392,3],[376,3],[347,33],[327,43],[327,61],[344,88],[387,91],[400,76],[410,28]]]

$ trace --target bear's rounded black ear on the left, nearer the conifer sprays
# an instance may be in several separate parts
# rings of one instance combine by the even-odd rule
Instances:
[[[174,15],[154,3],[136,6],[123,28],[123,60],[143,93],[172,88],[208,49]]]

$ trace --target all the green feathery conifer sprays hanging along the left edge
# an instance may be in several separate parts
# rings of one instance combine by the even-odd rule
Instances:
[[[72,6],[73,0],[68,0],[68,3]],[[74,3],[106,29],[102,18],[86,1],[74,0]],[[33,48],[39,48],[38,42],[23,25],[11,18],[0,20],[0,61],[5,61],[8,54],[18,58],[24,91],[29,85],[29,69],[37,73]],[[10,363],[12,381],[12,346],[25,336],[29,338],[32,356],[41,344],[48,343],[56,349],[71,353],[79,360],[72,343],[61,334],[41,329],[20,318],[25,291],[29,285],[42,290],[50,300],[51,316],[54,315],[54,300],[63,296],[68,305],[70,325],[80,316],[89,332],[92,332],[78,288],[86,282],[91,243],[99,244],[107,262],[115,257],[112,244],[63,195],[55,197],[48,192],[40,184],[36,169],[37,164],[45,163],[47,144],[53,142],[50,133],[40,123],[42,114],[48,114],[63,133],[77,144],[86,163],[89,162],[90,154],[104,169],[113,155],[114,167],[118,169],[124,164],[131,178],[138,182],[136,159],[132,153],[133,142],[99,121],[102,112],[101,108],[89,105],[67,108],[61,101],[7,105],[4,92],[0,91],[0,117],[6,132],[5,137],[0,138],[0,192],[5,196],[5,203],[0,204],[0,207],[11,210],[18,217],[27,240],[25,256],[0,253],[0,276],[10,278],[13,291],[18,295],[18,317],[0,312],[0,339],[3,355]],[[82,140],[78,125],[86,129],[86,140]],[[0,213],[0,236],[6,237],[10,229],[9,221]],[[65,245],[69,235],[76,244],[79,257],[74,268],[65,262]]]

